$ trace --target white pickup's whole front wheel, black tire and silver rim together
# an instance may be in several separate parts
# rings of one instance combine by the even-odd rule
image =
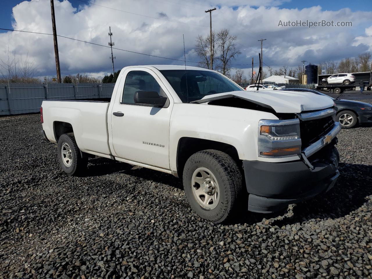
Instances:
[[[228,154],[203,150],[186,161],[183,186],[192,209],[217,224],[237,209],[243,179],[237,163]]]

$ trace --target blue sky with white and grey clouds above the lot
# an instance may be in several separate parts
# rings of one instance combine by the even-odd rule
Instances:
[[[49,0],[2,3],[0,28],[52,33]],[[310,6],[310,4],[312,6]],[[199,61],[194,52],[198,34],[208,35],[209,14],[218,31],[230,29],[238,37],[242,54],[234,64],[258,61],[260,38],[263,61],[273,68],[296,67],[301,60],[312,64],[339,61],[372,51],[371,0],[54,0],[57,34],[107,46],[109,26],[115,47],[129,51],[183,60]],[[352,27],[285,27],[279,21],[351,21]],[[112,71],[110,49],[58,38],[62,75],[88,73],[102,76]],[[38,76],[55,75],[53,37],[0,30],[0,58],[28,53],[37,65]],[[182,64],[113,50],[115,70],[126,65]],[[188,62],[188,65],[197,63]],[[238,65],[248,74],[249,65]]]

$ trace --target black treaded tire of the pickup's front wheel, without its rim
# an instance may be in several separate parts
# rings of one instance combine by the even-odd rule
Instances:
[[[211,210],[204,209],[196,201],[192,190],[192,175],[199,167],[209,169],[219,187],[219,202]],[[243,188],[242,172],[237,163],[226,153],[217,150],[203,150],[190,156],[183,169],[183,186],[191,208],[202,218],[215,224],[227,221],[238,209],[238,198]]]

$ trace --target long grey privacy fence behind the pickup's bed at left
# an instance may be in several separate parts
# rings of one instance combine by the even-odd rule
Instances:
[[[111,97],[115,83],[0,84],[0,115],[39,112],[43,100]]]

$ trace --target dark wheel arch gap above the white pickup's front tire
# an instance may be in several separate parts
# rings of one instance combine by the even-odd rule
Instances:
[[[230,155],[239,167],[242,167],[237,149],[225,142],[206,140],[202,138],[182,137],[177,144],[176,166],[177,176],[182,177],[183,168],[190,156],[198,151],[215,149]]]

